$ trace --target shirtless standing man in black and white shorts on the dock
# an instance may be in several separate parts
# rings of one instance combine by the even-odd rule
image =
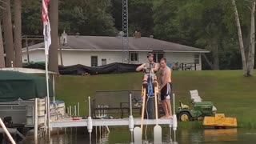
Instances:
[[[159,91],[161,92],[162,108],[165,112],[165,115],[162,118],[172,118],[170,106],[170,94],[172,92],[171,70],[168,66],[166,66],[166,58],[162,58],[160,60],[160,66],[159,81],[161,86]]]

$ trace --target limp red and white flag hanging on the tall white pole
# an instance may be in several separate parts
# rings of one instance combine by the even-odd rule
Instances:
[[[43,23],[43,35],[45,42],[45,54],[49,54],[49,47],[51,44],[50,38],[50,22],[48,17],[48,3],[50,0],[42,0],[42,23]]]

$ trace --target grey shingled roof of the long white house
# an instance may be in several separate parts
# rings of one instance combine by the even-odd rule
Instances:
[[[73,50],[122,50],[122,38],[106,36],[68,36],[67,45],[62,49]],[[44,43],[29,46],[29,49],[43,48]],[[166,42],[155,38],[129,38],[129,50],[131,51],[181,51],[181,52],[202,52],[208,50],[198,49],[192,46],[184,46],[178,43]]]

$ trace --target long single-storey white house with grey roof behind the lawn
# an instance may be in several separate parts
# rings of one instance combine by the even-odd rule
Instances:
[[[81,36],[62,34],[61,50],[58,50],[58,63],[62,66],[82,64],[85,66],[103,66],[112,62],[122,62],[122,37]],[[146,55],[154,54],[155,62],[162,57],[167,63],[186,63],[194,70],[202,70],[202,53],[209,53],[191,46],[165,42],[152,37],[129,38],[129,63],[146,62]],[[128,53],[127,53],[128,54]],[[27,56],[29,55],[29,57]],[[44,42],[22,49],[22,62],[45,61]]]

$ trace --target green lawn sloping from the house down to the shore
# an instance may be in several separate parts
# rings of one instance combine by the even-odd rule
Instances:
[[[173,71],[176,106],[178,100],[190,103],[189,90],[198,90],[204,101],[214,102],[218,113],[237,117],[238,126],[256,128],[256,78],[245,78],[242,70]],[[66,106],[80,102],[81,114],[87,115],[87,97],[96,90],[140,90],[141,73],[104,74],[95,76],[59,76],[56,97]],[[190,122],[198,126],[198,122]],[[190,124],[182,124],[190,125]]]

